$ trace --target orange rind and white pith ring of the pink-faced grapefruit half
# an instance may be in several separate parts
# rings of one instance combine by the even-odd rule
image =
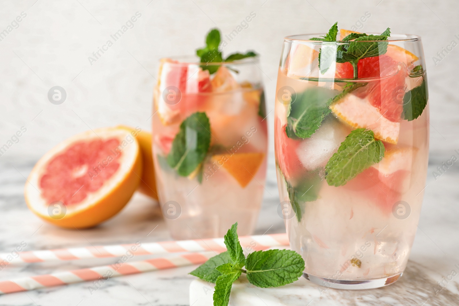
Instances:
[[[29,209],[43,220],[63,228],[90,228],[116,215],[128,203],[135,189],[139,186],[142,159],[136,141],[129,142],[130,132],[122,128],[99,128],[70,137],[56,145],[42,156],[30,172],[24,187],[24,197]],[[118,138],[123,144],[122,155],[118,158],[120,167],[112,177],[96,192],[88,193],[78,204],[66,206],[62,219],[54,219],[48,214],[50,203],[39,191],[39,182],[47,164],[56,155],[67,150],[77,141]]]

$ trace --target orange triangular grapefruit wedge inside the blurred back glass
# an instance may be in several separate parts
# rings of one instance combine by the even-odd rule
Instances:
[[[212,156],[212,161],[223,167],[242,188],[245,188],[255,177],[263,159],[264,153],[217,154]]]

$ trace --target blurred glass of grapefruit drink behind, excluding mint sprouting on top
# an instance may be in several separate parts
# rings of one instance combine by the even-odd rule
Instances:
[[[217,44],[218,45],[218,44]],[[267,125],[257,56],[161,60],[153,161],[174,239],[251,234],[263,199]],[[238,58],[239,58],[238,57]]]

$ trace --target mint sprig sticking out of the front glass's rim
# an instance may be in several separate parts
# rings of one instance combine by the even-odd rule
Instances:
[[[391,35],[391,30],[387,28],[381,35],[351,33],[342,40],[348,43],[338,45],[336,44],[336,36],[338,34],[337,24],[338,23],[335,22],[325,36],[309,39],[323,41],[319,51],[320,73],[324,74],[327,72],[334,61],[338,63],[350,62],[353,66],[353,76],[357,78],[357,63],[360,59],[380,56],[386,53],[388,45],[387,38]]]

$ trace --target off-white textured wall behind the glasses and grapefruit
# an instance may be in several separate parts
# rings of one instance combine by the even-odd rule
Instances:
[[[27,14],[0,41],[0,146],[22,126],[27,128],[19,143],[0,157],[4,161],[38,159],[62,139],[88,128],[124,123],[151,129],[158,59],[193,54],[209,28],[229,33],[252,11],[256,17],[224,52],[253,49],[261,54],[268,111],[273,109],[283,37],[324,32],[335,21],[351,28],[368,11],[371,17],[362,31],[390,27],[393,33],[422,36],[431,102],[431,162],[440,164],[459,149],[459,47],[436,64],[432,60],[452,40],[459,43],[456,1],[35,1],[5,0],[0,6],[0,31],[21,12]],[[137,11],[141,17],[134,28],[91,65],[88,56]],[[67,92],[62,105],[47,99],[55,85]]]

